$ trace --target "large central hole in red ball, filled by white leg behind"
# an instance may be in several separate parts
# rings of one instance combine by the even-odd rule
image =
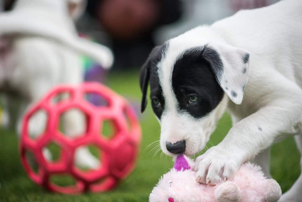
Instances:
[[[58,130],[71,139],[81,137],[88,131],[88,118],[88,115],[78,108],[70,108],[60,115]]]

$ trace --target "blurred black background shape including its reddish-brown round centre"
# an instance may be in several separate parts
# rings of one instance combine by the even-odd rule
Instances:
[[[154,31],[178,20],[180,0],[89,0],[88,12],[111,39],[113,69],[140,67],[155,46]]]

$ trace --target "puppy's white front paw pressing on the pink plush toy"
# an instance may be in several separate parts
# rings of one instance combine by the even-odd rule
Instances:
[[[196,158],[196,179],[204,184],[218,184],[220,180],[231,180],[240,167],[235,155],[214,146]]]

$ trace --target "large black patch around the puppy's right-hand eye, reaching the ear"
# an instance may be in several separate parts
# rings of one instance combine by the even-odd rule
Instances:
[[[223,90],[217,81],[222,73],[222,61],[214,49],[205,46],[185,51],[175,62],[172,72],[178,111],[201,118],[216,108],[223,98]],[[198,97],[196,102],[189,99],[192,95]]]

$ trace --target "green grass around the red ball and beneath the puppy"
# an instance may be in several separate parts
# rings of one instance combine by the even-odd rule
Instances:
[[[131,100],[140,101],[137,73],[110,75],[108,86]],[[141,116],[141,126],[143,137],[140,157],[133,173],[110,192],[77,196],[50,193],[34,184],[21,166],[17,135],[13,130],[0,129],[0,201],[147,201],[159,177],[172,167],[172,161],[170,157],[161,158],[160,152],[153,156],[153,147],[145,149],[147,145],[158,140],[160,131],[150,104]],[[211,136],[212,143],[218,144],[230,127],[230,116],[225,114]],[[210,146],[211,144],[207,144],[207,147]],[[271,174],[284,192],[300,174],[300,154],[294,139],[288,138],[275,144],[271,154]]]

